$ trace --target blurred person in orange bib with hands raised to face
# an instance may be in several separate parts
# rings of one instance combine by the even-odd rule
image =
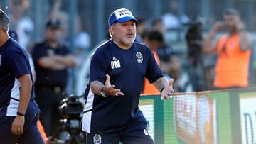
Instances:
[[[228,33],[215,43],[214,37],[221,30]],[[240,14],[235,9],[227,9],[223,22],[215,23],[203,43],[203,52],[218,53],[214,80],[217,89],[248,86],[250,47],[250,35]]]

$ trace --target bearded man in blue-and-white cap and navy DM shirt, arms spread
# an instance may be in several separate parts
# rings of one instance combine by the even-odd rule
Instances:
[[[114,11],[109,18],[112,39],[92,55],[82,118],[87,143],[154,143],[138,108],[144,78],[161,92],[161,99],[174,92],[174,79],[167,82],[149,47],[134,42],[136,23],[128,9]]]

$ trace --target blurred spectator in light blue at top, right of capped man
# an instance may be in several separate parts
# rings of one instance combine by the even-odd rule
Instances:
[[[179,5],[177,0],[170,1],[170,12],[162,16],[164,27],[169,29],[181,28],[184,23],[188,23],[189,18],[183,13],[179,13]]]

